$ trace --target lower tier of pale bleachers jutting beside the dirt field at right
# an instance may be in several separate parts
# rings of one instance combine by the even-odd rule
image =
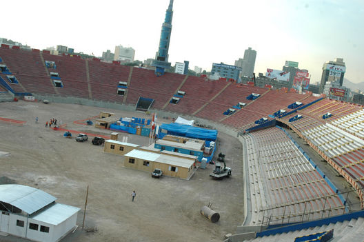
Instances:
[[[272,216],[276,223],[300,221],[304,210],[317,219],[324,207],[332,208],[332,215],[343,212],[336,191],[279,128],[247,134],[246,140],[250,195],[255,199],[250,225],[262,223],[263,216]]]

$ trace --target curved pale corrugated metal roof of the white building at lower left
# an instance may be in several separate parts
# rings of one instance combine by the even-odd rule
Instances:
[[[56,200],[57,198],[47,192],[26,185],[0,185],[0,201],[9,203],[28,214],[32,214]]]

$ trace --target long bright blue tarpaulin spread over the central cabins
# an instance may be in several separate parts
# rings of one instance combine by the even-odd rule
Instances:
[[[178,135],[181,137],[189,137],[193,139],[203,139],[215,141],[217,139],[217,130],[208,130],[205,128],[183,125],[179,123],[163,123],[159,126],[158,138],[165,136],[161,130],[167,130],[167,134]]]

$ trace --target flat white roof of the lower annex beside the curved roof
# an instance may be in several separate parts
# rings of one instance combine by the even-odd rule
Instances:
[[[79,212],[79,210],[79,208],[72,207],[70,205],[56,203],[31,218],[43,223],[59,225],[59,223],[62,223],[73,214]]]

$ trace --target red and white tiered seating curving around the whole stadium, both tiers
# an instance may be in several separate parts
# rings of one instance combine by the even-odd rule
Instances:
[[[236,132],[254,127],[254,121],[263,117],[268,121],[273,119],[274,112],[287,110],[287,105],[296,101],[306,104],[320,99],[308,92],[298,94],[285,89],[270,90],[174,73],[155,77],[153,70],[103,63],[98,59],[57,56],[47,51],[3,47],[0,48],[0,57],[1,63],[5,63],[19,81],[11,83],[6,74],[0,73],[1,79],[14,92],[81,97],[128,105],[136,105],[139,97],[144,97],[154,99],[152,109],[214,121]],[[54,61],[57,68],[47,68],[44,61]],[[59,73],[63,88],[54,86],[50,72]],[[126,89],[124,95],[117,94],[120,81],[127,83],[123,87]],[[178,103],[170,103],[177,91],[185,94]],[[7,90],[0,85],[0,92],[5,94]],[[260,94],[260,97],[247,100],[252,93]],[[239,103],[245,105],[236,108],[236,112],[229,116],[223,114]],[[327,113],[332,116],[323,119]],[[289,122],[297,114],[302,118]],[[364,187],[363,105],[322,99],[276,120],[303,137],[358,190],[358,196],[364,202],[361,192]],[[263,223],[267,216],[280,223],[300,221],[305,211],[309,211],[311,219],[319,219],[321,213],[317,211],[323,208],[330,210],[323,216],[344,212],[343,201],[332,186],[281,130],[268,128],[251,132],[245,134],[244,139],[252,198],[250,225]],[[287,214],[292,215],[290,219],[282,218]]]

